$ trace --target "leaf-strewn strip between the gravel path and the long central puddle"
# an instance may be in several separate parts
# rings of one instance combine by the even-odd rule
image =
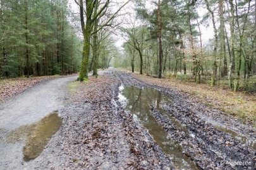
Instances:
[[[47,167],[171,169],[169,157],[119,103],[120,83],[112,73],[77,83],[61,111],[63,126],[49,145],[49,154],[55,155]],[[46,166],[38,163],[42,169]]]

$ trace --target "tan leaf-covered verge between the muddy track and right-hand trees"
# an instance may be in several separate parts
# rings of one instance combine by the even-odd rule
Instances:
[[[152,85],[176,89],[186,93],[194,101],[222,110],[229,113],[229,115],[235,116],[243,123],[256,127],[256,96],[233,92],[229,89],[212,88],[209,84],[184,82],[174,78],[155,79],[154,77],[135,73],[133,73],[133,76]]]

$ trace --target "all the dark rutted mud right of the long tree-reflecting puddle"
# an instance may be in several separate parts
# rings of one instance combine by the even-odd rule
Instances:
[[[225,124],[217,120],[227,119],[222,116],[221,111],[210,110],[207,106],[193,103],[179,91],[147,84],[125,72],[117,74],[125,86],[137,86],[141,89],[154,88],[172,99],[169,103],[155,105],[156,99],[151,105],[150,113],[168,133],[168,138],[180,146],[183,155],[189,157],[198,167],[201,169],[256,168],[255,128],[240,125],[236,128],[238,129],[236,132],[227,127],[221,128],[217,125]],[[209,116],[208,122],[204,113],[217,115],[218,119],[213,121],[212,116]],[[232,118],[229,118],[229,121],[235,122]],[[231,166],[223,164],[223,161],[250,162],[250,165]]]

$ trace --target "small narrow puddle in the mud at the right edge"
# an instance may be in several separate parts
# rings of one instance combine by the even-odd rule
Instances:
[[[228,128],[219,127],[216,125],[214,127],[217,128],[217,130],[220,130],[221,132],[229,133],[229,135],[231,135],[231,137],[233,137],[234,139],[239,140],[241,143],[246,144],[249,147],[252,147],[254,150],[256,150],[256,141],[249,140],[247,137],[242,136]]]

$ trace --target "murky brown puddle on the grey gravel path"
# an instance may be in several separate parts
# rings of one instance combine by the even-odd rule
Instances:
[[[30,161],[40,155],[52,135],[59,130],[61,124],[61,117],[58,116],[57,111],[54,111],[39,122],[13,130],[7,137],[6,142],[12,144],[15,142],[25,143],[23,159],[24,161]]]

